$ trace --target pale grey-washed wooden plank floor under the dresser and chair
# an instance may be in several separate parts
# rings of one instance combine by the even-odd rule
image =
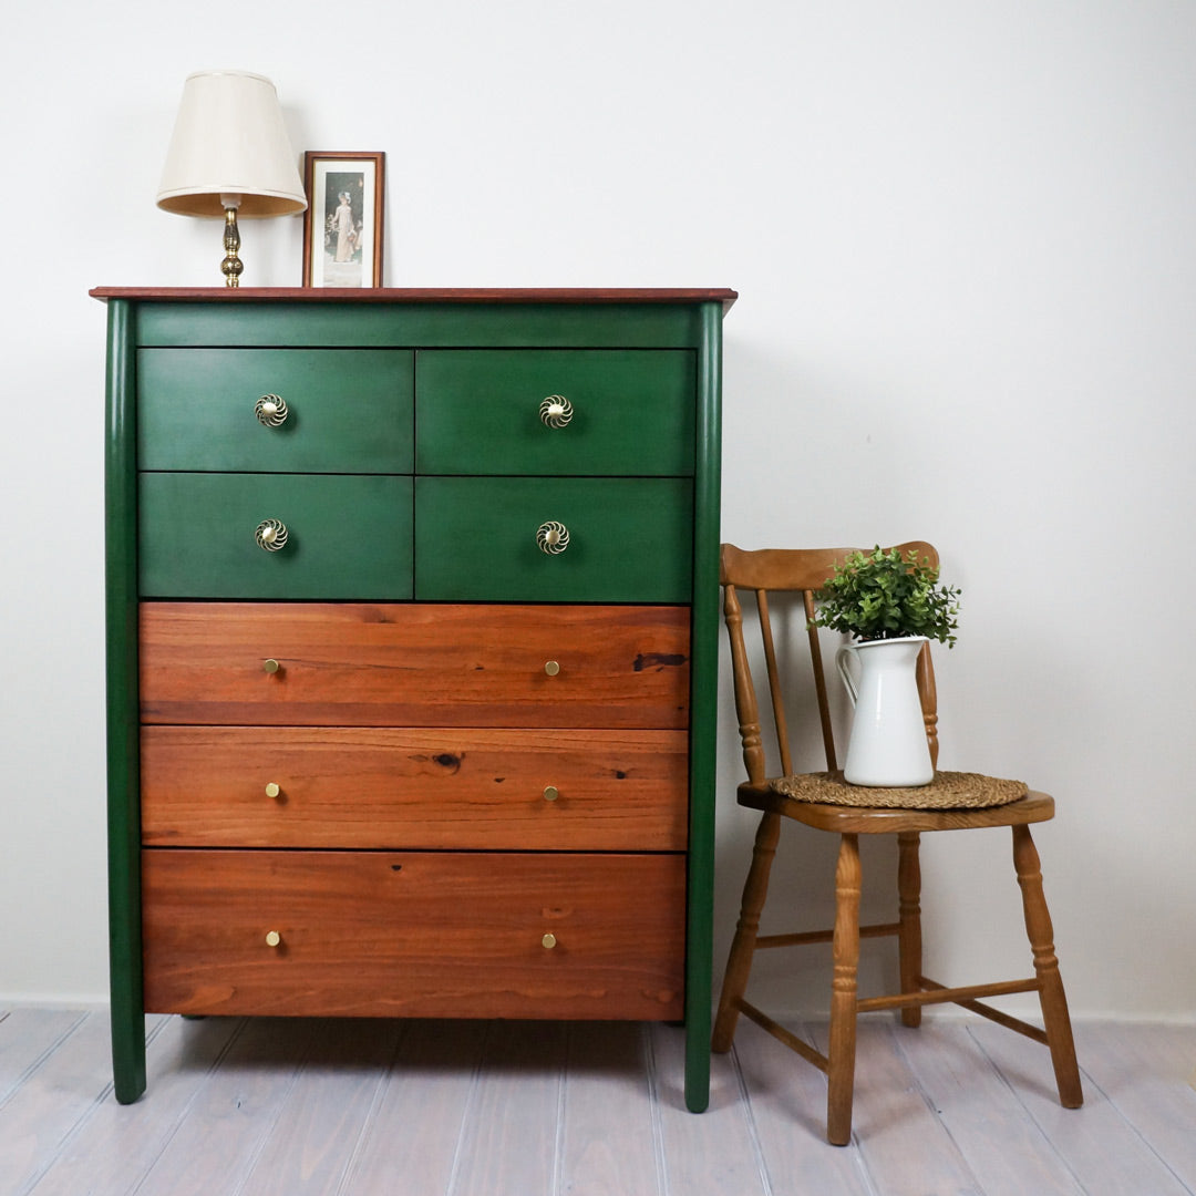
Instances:
[[[104,1014],[0,1011],[0,1194],[1196,1194],[1196,1026],[1079,1024],[1086,1104],[1068,1111],[1044,1049],[999,1026],[865,1019],[844,1148],[822,1137],[823,1078],[751,1025],[701,1116],[669,1026],[151,1018],[147,1035],[150,1091],[122,1107]]]

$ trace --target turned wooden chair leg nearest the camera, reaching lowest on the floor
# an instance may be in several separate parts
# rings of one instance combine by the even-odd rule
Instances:
[[[859,836],[842,835],[835,868],[835,972],[830,997],[830,1045],[826,1051],[826,1140],[834,1146],[847,1146],[852,1139],[860,883]]]

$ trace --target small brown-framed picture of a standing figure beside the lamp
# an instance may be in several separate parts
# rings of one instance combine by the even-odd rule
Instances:
[[[380,287],[383,153],[304,154],[305,287]]]

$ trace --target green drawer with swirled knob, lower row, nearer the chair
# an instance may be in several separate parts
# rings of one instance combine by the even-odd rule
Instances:
[[[678,477],[417,477],[415,597],[688,603],[692,500]],[[560,554],[537,543],[549,521]]]

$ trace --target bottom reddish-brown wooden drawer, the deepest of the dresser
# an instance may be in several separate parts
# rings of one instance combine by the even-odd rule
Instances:
[[[148,1012],[683,1013],[682,855],[151,848],[142,892]]]

